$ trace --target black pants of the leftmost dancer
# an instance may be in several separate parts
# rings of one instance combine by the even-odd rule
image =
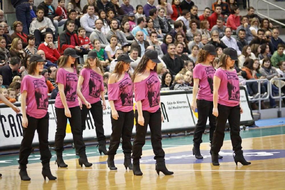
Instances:
[[[40,119],[30,117],[29,115],[27,115],[27,118],[28,127],[23,127],[23,140],[20,146],[18,163],[23,165],[28,164],[28,157],[32,152],[32,142],[36,130],[38,132],[40,160],[43,164],[49,163],[52,154],[50,153],[50,149],[48,147],[48,113],[46,113],[46,115]]]

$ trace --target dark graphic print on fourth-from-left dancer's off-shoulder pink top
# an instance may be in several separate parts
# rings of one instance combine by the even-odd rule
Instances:
[[[119,88],[121,91],[120,98],[122,101],[122,106],[132,106],[133,103],[133,91],[129,92],[129,86],[131,86],[131,79],[127,78],[119,83]]]

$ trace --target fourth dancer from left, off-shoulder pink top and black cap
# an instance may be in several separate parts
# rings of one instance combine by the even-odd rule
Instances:
[[[108,100],[111,107],[112,134],[108,154],[108,167],[116,170],[114,156],[122,137],[122,148],[125,155],[124,166],[133,169],[131,162],[131,136],[134,127],[133,82],[130,77],[130,63],[133,62],[127,54],[117,58],[118,63],[108,80]]]

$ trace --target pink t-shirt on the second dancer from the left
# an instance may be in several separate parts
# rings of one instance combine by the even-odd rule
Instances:
[[[76,89],[77,89],[78,77],[76,70],[73,73],[66,71],[64,68],[59,68],[56,73],[56,83],[64,85],[64,94],[66,97],[66,103],[69,108],[79,106]],[[60,99],[59,92],[56,95],[54,107],[64,108]]]

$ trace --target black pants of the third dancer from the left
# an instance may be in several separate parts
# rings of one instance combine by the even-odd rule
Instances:
[[[103,108],[101,101],[91,104],[90,108],[91,115],[94,120],[96,136],[99,144],[106,143],[106,137],[104,135],[103,128]],[[86,105],[82,104],[81,110],[81,131],[86,129],[86,118],[89,113],[89,109],[87,109]]]

